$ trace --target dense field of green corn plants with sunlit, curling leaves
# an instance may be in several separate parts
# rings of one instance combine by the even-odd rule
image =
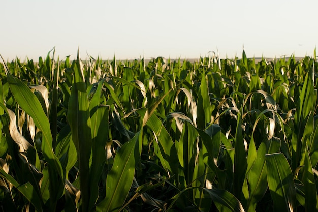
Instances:
[[[317,62],[0,65],[0,211],[318,211]]]

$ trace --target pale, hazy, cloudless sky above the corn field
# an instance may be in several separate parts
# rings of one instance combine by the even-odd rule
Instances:
[[[313,56],[316,0],[2,0],[0,54],[135,59]]]

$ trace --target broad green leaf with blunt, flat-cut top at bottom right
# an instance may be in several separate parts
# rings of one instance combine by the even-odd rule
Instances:
[[[275,211],[296,209],[296,189],[293,173],[282,153],[266,155],[267,182]]]

